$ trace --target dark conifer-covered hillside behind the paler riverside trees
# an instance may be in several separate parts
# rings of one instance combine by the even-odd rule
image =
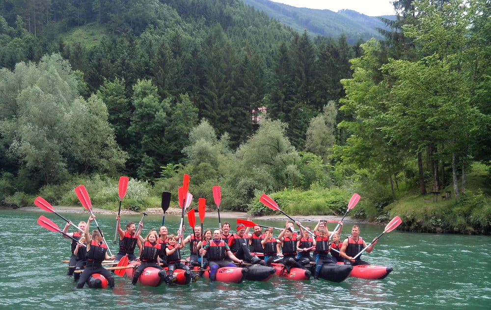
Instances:
[[[182,162],[198,119],[236,148],[267,106],[302,147],[309,119],[343,96],[356,56],[345,38],[314,43],[237,0],[2,1],[1,15],[1,66],[69,60],[84,98],[105,102],[128,173],[145,179]],[[196,113],[180,115],[183,102]]]

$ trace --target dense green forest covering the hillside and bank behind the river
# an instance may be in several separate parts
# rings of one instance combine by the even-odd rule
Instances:
[[[189,173],[228,209],[264,213],[267,192],[336,214],[356,191],[355,216],[489,233],[489,186],[467,175],[489,175],[490,3],[394,10],[384,40],[350,45],[239,0],[0,0],[2,204],[73,203],[80,182],[104,204],[125,174],[144,207]]]

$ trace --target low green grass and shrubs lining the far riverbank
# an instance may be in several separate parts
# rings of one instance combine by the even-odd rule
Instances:
[[[490,180],[488,167],[484,165],[473,165],[467,176],[467,191],[457,201],[452,186],[443,189],[451,191],[451,197],[442,199],[440,194],[437,201],[433,201],[432,194],[421,196],[414,191],[401,194],[397,200],[386,202],[387,197],[377,198],[380,191],[371,189],[360,189],[358,192],[361,199],[353,210],[348,214],[350,217],[366,219],[379,223],[387,223],[394,216],[400,216],[403,223],[400,228],[408,231],[421,232],[447,232],[464,234],[491,234],[491,198],[490,188],[487,187]],[[6,183],[5,174],[0,179],[0,188]],[[123,199],[123,208],[134,211],[144,210],[149,207],[160,207],[163,191],[172,193],[171,207],[178,207],[177,188],[181,185],[182,176],[158,181],[154,185],[130,179],[128,191]],[[15,193],[4,197],[3,203],[13,208],[32,206],[35,197],[41,196],[53,205],[79,206],[81,205],[75,195],[74,188],[84,185],[90,195],[92,205],[98,208],[117,210],[119,206],[118,179],[106,175],[76,176],[70,182],[62,185],[45,186],[37,195]],[[359,185],[358,185],[359,186]],[[195,190],[202,191],[199,185]],[[190,186],[190,192],[193,188]],[[234,206],[226,204],[226,188],[222,187],[222,204],[220,209],[237,210]],[[261,202],[256,193],[251,199],[247,211],[252,216],[279,214]],[[370,195],[372,194],[372,195]],[[346,210],[348,201],[353,195],[353,190],[343,188],[323,188],[313,186],[309,191],[285,189],[284,191],[269,194],[286,214],[294,217],[296,215],[338,215],[342,216]],[[207,206],[216,208],[213,194],[199,195],[207,199]],[[205,197],[207,196],[207,197]],[[197,196],[191,206],[196,207]]]

